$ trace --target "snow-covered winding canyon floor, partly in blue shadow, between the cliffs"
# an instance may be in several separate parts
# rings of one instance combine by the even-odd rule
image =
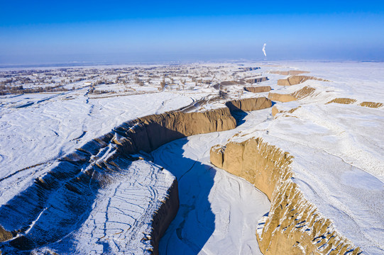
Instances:
[[[160,242],[160,254],[261,254],[258,219],[269,210],[265,194],[209,162],[209,150],[241,130],[268,121],[270,109],[245,116],[234,130],[194,135],[153,152],[179,181],[180,209]]]

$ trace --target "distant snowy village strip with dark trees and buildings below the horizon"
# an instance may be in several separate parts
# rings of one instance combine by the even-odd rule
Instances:
[[[224,66],[189,64],[148,67],[92,67],[26,69],[0,71],[0,96],[31,93],[60,93],[89,88],[89,94],[114,94],[141,91],[190,90],[195,86],[246,84],[265,77],[249,75],[260,67],[239,67],[237,71]],[[144,89],[148,92],[148,89]]]

